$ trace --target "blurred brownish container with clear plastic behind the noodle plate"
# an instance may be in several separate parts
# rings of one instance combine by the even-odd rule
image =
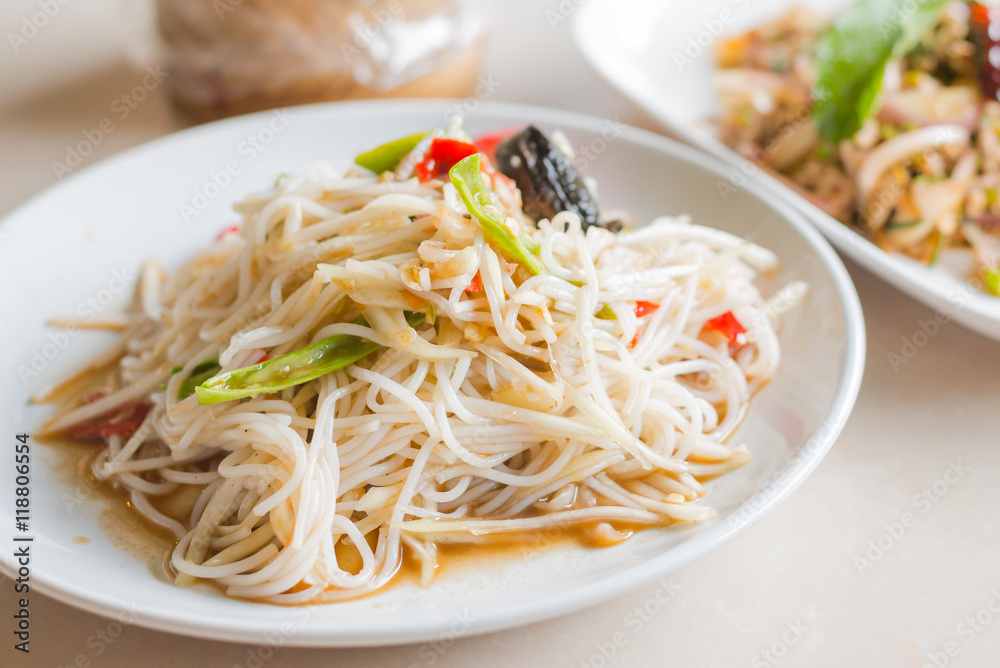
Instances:
[[[197,120],[365,97],[464,97],[490,0],[157,0],[174,100]]]

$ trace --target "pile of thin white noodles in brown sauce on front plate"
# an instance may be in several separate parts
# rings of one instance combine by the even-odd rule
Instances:
[[[176,535],[179,583],[273,603],[376,590],[404,554],[429,577],[446,541],[582,525],[613,543],[616,526],[711,517],[702,483],[749,459],[725,440],[778,364],[753,284],[776,258],[683,218],[535,225],[509,184],[493,190],[546,274],[498,254],[446,179],[282,177],[172,276],[147,263],[92,364],[111,371],[48,431],[147,404],[93,474]],[[739,345],[706,326],[730,312]],[[384,348],[277,393],[180,398],[206,360],[226,372],[335,334]],[[182,493],[180,521],[157,509]]]

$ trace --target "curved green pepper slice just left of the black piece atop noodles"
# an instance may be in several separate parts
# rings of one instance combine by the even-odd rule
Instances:
[[[486,241],[493,244],[504,257],[524,265],[536,276],[547,273],[534,253],[538,243],[531,237],[507,227],[507,216],[490,201],[489,191],[479,171],[479,154],[470,155],[455,163],[448,172],[458,196],[483,228]]]

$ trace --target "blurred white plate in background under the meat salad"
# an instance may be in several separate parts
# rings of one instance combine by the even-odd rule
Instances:
[[[739,156],[715,135],[719,115],[710,76],[712,46],[777,18],[801,0],[592,0],[577,12],[573,32],[583,55],[611,85],[659,119],[672,133],[729,164],[727,186],[755,186],[794,204],[838,250],[883,280],[966,327],[1000,339],[1000,299],[966,282],[971,256],[955,251],[935,267],[889,254]],[[835,16],[849,0],[811,0],[810,9]],[[725,187],[724,187],[725,189]]]

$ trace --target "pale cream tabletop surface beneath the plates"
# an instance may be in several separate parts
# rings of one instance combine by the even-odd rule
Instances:
[[[0,214],[56,181],[53,161],[111,115],[114,99],[141,81],[135,64],[149,53],[131,30],[141,19],[134,0],[59,0],[65,6],[15,53],[7,35],[39,1],[0,7]],[[655,128],[577,54],[569,21],[558,19],[580,2],[503,0],[483,69],[492,99]],[[177,127],[156,89],[84,164]],[[436,645],[285,648],[266,664],[1000,665],[1000,345],[947,324],[894,368],[890,354],[912,352],[906,342],[934,314],[848,268],[868,325],[853,417],[790,499],[674,573],[667,603],[651,585],[527,628]],[[4,666],[67,666],[78,656],[95,666],[258,665],[246,646],[141,628],[104,643],[108,620],[41,595],[31,601],[32,653],[14,652],[5,632]],[[0,610],[12,606],[11,583],[0,583]]]

